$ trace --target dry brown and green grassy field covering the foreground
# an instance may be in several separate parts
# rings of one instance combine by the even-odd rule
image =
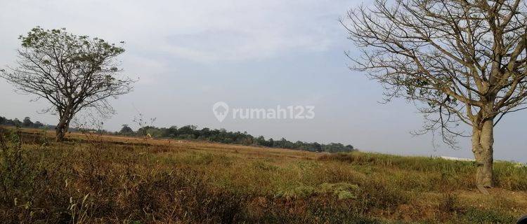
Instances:
[[[514,223],[527,168],[165,139],[2,130],[3,223]]]

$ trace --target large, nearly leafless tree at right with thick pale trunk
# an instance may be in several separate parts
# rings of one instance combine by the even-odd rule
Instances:
[[[382,83],[386,99],[415,102],[445,143],[471,137],[476,184],[490,188],[494,127],[526,108],[526,15],[523,0],[375,0],[341,23],[362,51],[352,69]]]

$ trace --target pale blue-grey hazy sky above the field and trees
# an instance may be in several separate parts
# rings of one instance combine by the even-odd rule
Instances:
[[[119,130],[143,113],[153,125],[197,125],[246,131],[290,141],[340,142],[363,151],[396,155],[473,158],[469,139],[460,148],[413,136],[422,115],[396,99],[381,104],[382,87],[350,71],[344,55],[358,55],[338,20],[365,1],[102,1],[0,0],[0,67],[15,63],[18,36],[32,27],[65,27],[78,35],[119,43],[124,74],[138,78],[134,92],[112,99],[117,113],[103,120]],[[57,123],[41,113],[44,101],[18,94],[0,80],[0,116]],[[313,119],[216,120],[212,105],[275,109],[314,106]],[[79,123],[89,120],[83,114]],[[525,113],[508,115],[495,130],[495,158],[527,162]]]

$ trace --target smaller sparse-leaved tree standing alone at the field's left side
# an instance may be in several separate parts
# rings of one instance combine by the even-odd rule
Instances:
[[[8,67],[1,77],[25,94],[47,99],[59,116],[56,141],[63,141],[70,121],[82,109],[108,116],[114,111],[108,97],[131,92],[134,80],[120,75],[117,55],[124,48],[100,38],[76,36],[65,29],[35,27],[20,36],[18,66]],[[123,42],[121,42],[123,43]]]

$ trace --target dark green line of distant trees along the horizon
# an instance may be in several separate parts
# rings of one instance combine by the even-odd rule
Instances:
[[[0,116],[0,125],[16,126],[16,127],[31,127],[53,130],[55,125],[45,125],[39,121],[32,122],[31,118],[26,117],[20,121],[18,118],[13,120]],[[318,142],[305,142],[305,141],[288,141],[287,139],[265,139],[263,136],[253,137],[247,132],[228,132],[225,129],[214,129],[211,130],[207,127],[198,129],[195,125],[185,125],[183,127],[154,127],[145,126],[139,128],[137,131],[132,130],[129,125],[122,125],[119,132],[108,132],[106,130],[91,130],[91,129],[79,129],[70,128],[72,132],[97,132],[100,134],[117,134],[129,137],[144,137],[147,134],[155,138],[164,139],[186,139],[186,140],[201,140],[201,141],[214,141],[223,144],[241,144],[245,146],[264,146],[270,148],[290,148],[302,151],[311,152],[349,152],[355,149],[351,145],[344,146],[339,143],[330,144],[319,144]]]

